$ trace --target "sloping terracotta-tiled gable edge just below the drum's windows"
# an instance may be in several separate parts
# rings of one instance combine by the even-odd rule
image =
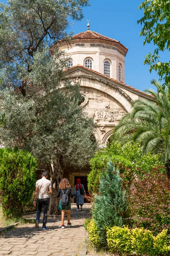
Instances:
[[[119,84],[121,84],[121,85],[123,85],[123,86],[125,86],[125,87],[127,87],[127,88],[133,89],[133,90],[135,90],[135,91],[138,91],[139,93],[142,93],[142,94],[144,94],[144,95],[147,95],[147,96],[153,98],[153,96],[152,96],[151,94],[149,94],[149,93],[144,93],[144,92],[142,92],[141,90],[136,89],[135,87],[132,87],[132,86],[130,86],[130,85],[127,85],[127,84],[125,84],[125,83],[123,83],[123,82],[121,82],[121,81],[119,81],[119,80],[113,79],[113,78],[111,78],[111,77],[105,76],[105,75],[103,75],[102,73],[99,73],[99,72],[97,72],[97,71],[95,71],[95,70],[91,70],[91,69],[89,69],[89,68],[87,68],[87,67],[84,67],[84,66],[82,66],[82,65],[79,65],[79,64],[76,65],[76,66],[73,66],[73,67],[70,67],[70,68],[64,70],[64,72],[66,72],[66,71],[68,71],[68,70],[72,70],[72,69],[74,69],[75,67],[82,67],[82,68],[84,68],[85,70],[91,71],[91,72],[93,72],[93,73],[95,73],[95,74],[98,74],[98,75],[100,75],[100,76],[103,76],[104,78],[107,78],[107,79],[109,79],[109,80],[111,80],[111,81],[114,81],[114,82],[116,82],[116,83],[119,83]]]

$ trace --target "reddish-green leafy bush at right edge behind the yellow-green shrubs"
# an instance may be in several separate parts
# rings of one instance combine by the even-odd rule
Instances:
[[[133,180],[127,193],[127,223],[131,228],[143,227],[157,235],[164,229],[170,233],[170,185],[166,176],[155,172]]]

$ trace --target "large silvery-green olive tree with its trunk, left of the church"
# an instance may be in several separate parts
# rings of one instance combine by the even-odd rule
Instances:
[[[79,106],[80,88],[64,76],[64,52],[49,51],[59,40],[69,42],[67,31],[87,5],[88,0],[0,3],[0,112],[6,113],[1,143],[30,151],[52,185],[65,165],[87,165],[96,146],[93,120]],[[55,192],[50,213],[57,214]]]

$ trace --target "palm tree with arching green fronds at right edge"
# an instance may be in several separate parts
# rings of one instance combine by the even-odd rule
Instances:
[[[116,125],[112,138],[122,145],[129,140],[142,143],[143,153],[150,150],[161,155],[169,169],[170,163],[170,84],[165,88],[156,80],[151,81],[157,92],[145,92],[153,96],[153,101],[137,99],[132,102],[132,110],[126,113]]]

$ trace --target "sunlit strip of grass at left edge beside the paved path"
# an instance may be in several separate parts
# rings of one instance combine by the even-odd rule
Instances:
[[[0,207],[0,227],[8,227],[16,222],[19,222],[18,225],[30,224],[30,223],[32,224],[34,223],[34,219],[25,219],[25,218],[4,219],[2,207]]]

